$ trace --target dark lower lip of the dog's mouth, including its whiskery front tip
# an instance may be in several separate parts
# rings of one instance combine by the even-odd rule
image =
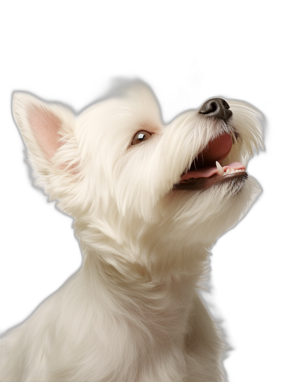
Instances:
[[[242,188],[245,185],[245,182],[248,178],[247,172],[240,172],[230,175],[220,176],[218,174],[214,174],[209,178],[191,178],[186,183],[180,183],[174,186],[175,190],[203,190],[207,189],[213,185],[222,186],[223,184],[230,183],[230,187],[237,189]]]

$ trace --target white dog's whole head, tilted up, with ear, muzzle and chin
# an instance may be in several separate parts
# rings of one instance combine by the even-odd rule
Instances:
[[[165,124],[135,80],[79,115],[25,92],[12,110],[35,184],[74,217],[84,254],[146,262],[209,248],[260,193],[245,170],[263,116],[245,102],[213,98]]]

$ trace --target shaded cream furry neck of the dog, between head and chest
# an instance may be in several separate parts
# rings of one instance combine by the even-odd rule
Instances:
[[[91,303],[100,305],[98,309],[133,327],[136,333],[141,330],[153,340],[169,341],[186,331],[193,297],[208,270],[207,257],[205,251],[205,256],[197,255],[185,267],[182,264],[181,270],[167,272],[162,268],[160,273],[158,264],[154,272],[151,266],[137,263],[119,262],[116,266],[89,251],[81,273]]]

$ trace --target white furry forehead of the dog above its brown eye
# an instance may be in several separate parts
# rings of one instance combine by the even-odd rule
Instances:
[[[78,141],[129,142],[137,131],[162,125],[159,103],[147,86],[133,86],[85,108],[76,118]]]

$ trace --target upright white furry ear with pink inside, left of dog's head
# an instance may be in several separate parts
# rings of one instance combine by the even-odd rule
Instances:
[[[42,173],[50,171],[50,167],[55,165],[55,154],[63,146],[65,137],[74,133],[75,118],[72,110],[59,103],[45,102],[27,92],[14,92],[12,114],[32,165]],[[61,165],[57,162],[58,167],[64,167],[64,163]]]

